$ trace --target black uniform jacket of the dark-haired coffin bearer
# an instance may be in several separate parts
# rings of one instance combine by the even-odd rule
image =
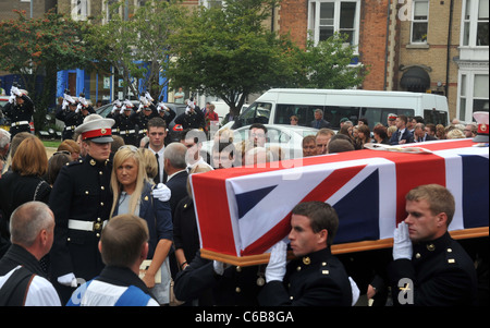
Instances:
[[[330,248],[287,264],[283,281],[269,281],[259,294],[265,306],[351,306],[352,288],[342,263]]]

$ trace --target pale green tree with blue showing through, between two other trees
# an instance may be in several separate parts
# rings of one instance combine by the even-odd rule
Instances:
[[[168,37],[182,24],[185,8],[181,0],[146,1],[144,5],[125,8],[126,1],[110,4],[110,21],[95,26],[89,38],[99,62],[114,66],[124,86],[134,95],[144,90],[160,92],[171,56]],[[120,12],[131,12],[120,15]],[[137,82],[140,82],[138,85]]]

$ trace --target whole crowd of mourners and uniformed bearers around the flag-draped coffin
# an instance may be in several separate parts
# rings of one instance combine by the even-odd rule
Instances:
[[[148,118],[138,122],[144,143],[143,137],[128,138],[132,129],[121,123],[135,117],[130,102],[119,109],[114,105],[110,118],[87,109],[82,123],[66,125],[74,129],[65,129],[50,158],[37,136],[0,130],[5,156],[0,304],[352,306],[362,294],[378,300],[377,305],[488,304],[488,252],[471,257],[448,233],[454,197],[440,185],[421,185],[406,195],[407,217],[394,232],[393,248],[366,255],[389,252],[385,268],[370,267],[376,275],[366,281],[352,269],[358,268],[358,258],[353,266],[353,257],[332,254],[341,218],[322,202],[294,207],[287,242],[271,248],[267,265],[241,267],[204,258],[189,177],[277,161],[284,154],[266,145],[267,127],[259,123],[241,142],[233,141],[232,131],[220,131],[209,155],[201,149],[205,129],[191,125],[179,142],[166,143],[168,120],[149,95],[145,98],[148,106],[140,109]],[[62,110],[71,111],[70,106],[66,97]],[[188,107],[187,116],[206,122],[203,111]],[[363,149],[368,143],[451,138],[456,130],[457,137],[476,133],[473,124],[462,129],[453,122],[438,134],[438,126],[404,116],[390,116],[390,126],[378,124],[372,131],[364,119],[357,125],[342,120],[338,133],[321,124],[316,135],[303,138],[305,157]],[[487,286],[479,279],[487,279]]]

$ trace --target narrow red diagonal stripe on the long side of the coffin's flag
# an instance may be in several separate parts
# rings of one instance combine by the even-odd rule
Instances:
[[[345,183],[351,181],[357,173],[366,166],[350,167],[336,169],[322,182],[320,182],[302,202],[320,201],[326,202],[336,191],[339,191]],[[266,232],[262,236],[256,240],[241,252],[242,256],[262,254],[269,250],[277,242],[282,240],[291,230],[291,211],[272,229]]]

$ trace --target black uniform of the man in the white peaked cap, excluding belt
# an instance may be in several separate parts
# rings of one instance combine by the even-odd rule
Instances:
[[[98,251],[102,226],[94,223],[93,231],[69,229],[69,220],[103,222],[109,219],[111,170],[112,162],[99,162],[89,155],[60,170],[49,198],[56,220],[50,253],[54,279],[73,272],[88,281],[103,268]]]

